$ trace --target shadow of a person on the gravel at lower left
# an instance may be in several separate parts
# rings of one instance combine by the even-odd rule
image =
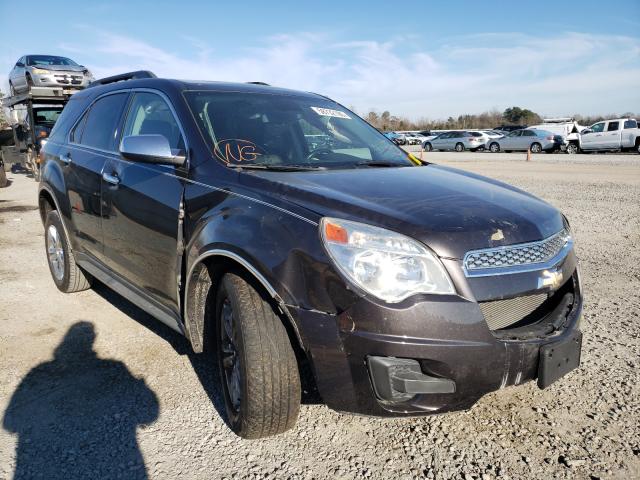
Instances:
[[[156,420],[157,397],[94,340],[74,324],[14,392],[2,423],[18,434],[14,479],[147,478],[136,428]]]

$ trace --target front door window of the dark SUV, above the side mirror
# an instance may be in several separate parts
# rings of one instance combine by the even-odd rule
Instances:
[[[184,139],[180,133],[169,105],[155,93],[136,93],[129,108],[123,137],[131,135],[163,135],[172,150],[184,150]]]

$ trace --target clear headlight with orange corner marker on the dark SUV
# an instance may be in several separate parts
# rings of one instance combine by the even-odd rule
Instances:
[[[420,242],[363,223],[325,217],[320,233],[336,267],[380,300],[397,303],[416,293],[454,294],[436,255]]]

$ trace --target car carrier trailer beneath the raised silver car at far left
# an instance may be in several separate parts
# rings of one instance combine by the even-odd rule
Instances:
[[[69,97],[78,90],[31,87],[29,92],[2,99],[9,112],[12,139],[0,145],[4,170],[27,170],[40,179],[38,153]],[[5,139],[6,140],[6,139]]]

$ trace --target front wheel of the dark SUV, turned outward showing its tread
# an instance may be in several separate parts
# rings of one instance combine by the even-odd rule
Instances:
[[[300,411],[300,375],[287,332],[246,280],[227,273],[216,295],[216,350],[227,419],[242,438],[277,435]]]

